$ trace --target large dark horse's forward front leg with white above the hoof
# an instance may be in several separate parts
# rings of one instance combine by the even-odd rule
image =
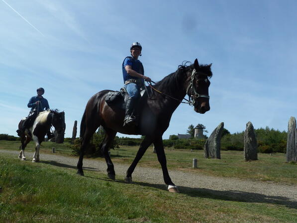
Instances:
[[[161,164],[161,167],[162,167],[162,172],[163,172],[163,177],[164,177],[165,184],[168,185],[168,191],[169,192],[179,193],[178,187],[175,186],[175,184],[171,181],[169,173],[168,173],[167,161],[166,161],[166,155],[165,155],[165,152],[164,152],[162,136],[156,137],[156,139],[154,140],[154,145],[155,145],[155,149],[156,149],[156,152],[157,152],[158,161],[159,161],[159,163]]]

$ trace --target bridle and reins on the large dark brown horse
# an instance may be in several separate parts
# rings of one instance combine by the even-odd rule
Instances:
[[[162,94],[162,95],[165,95],[165,96],[167,96],[167,97],[169,97],[169,98],[171,98],[171,99],[174,99],[174,100],[176,100],[176,101],[179,101],[180,103],[184,103],[184,104],[188,104],[188,105],[190,105],[190,106],[194,106],[195,105],[195,100],[196,99],[198,99],[198,98],[206,98],[206,99],[209,99],[209,95],[200,95],[200,94],[198,94],[197,93],[197,91],[196,91],[196,89],[194,88],[194,79],[195,79],[195,76],[196,75],[198,75],[198,74],[201,74],[201,75],[206,75],[206,74],[204,74],[204,73],[202,73],[202,72],[196,72],[196,69],[194,68],[193,69],[193,71],[192,71],[192,75],[191,75],[191,81],[190,81],[190,83],[189,83],[189,85],[188,85],[188,87],[187,87],[187,90],[186,90],[186,93],[187,93],[187,95],[189,96],[189,100],[187,100],[187,99],[183,99],[183,100],[186,100],[187,102],[183,102],[183,101],[181,101],[181,100],[179,100],[179,99],[176,99],[176,98],[174,98],[174,97],[172,97],[172,96],[170,96],[170,95],[167,95],[167,94],[165,94],[165,93],[163,93],[163,92],[160,92],[160,91],[158,91],[157,89],[155,89],[153,86],[152,86],[152,83],[151,82],[153,82],[153,81],[151,81],[151,82],[148,82],[149,83],[149,86],[154,90],[154,91],[156,91],[156,92],[158,92],[158,93],[160,93],[160,94]],[[155,84],[155,82],[153,82],[154,84]],[[144,85],[145,86],[145,85]],[[146,88],[146,86],[145,86],[145,88]],[[191,91],[191,94],[189,94],[188,92],[189,92],[189,90],[190,90],[190,88],[192,89],[192,91]],[[146,91],[147,91],[147,89],[146,89]],[[148,92],[148,91],[147,91]],[[149,96],[149,98],[151,98],[152,96]]]

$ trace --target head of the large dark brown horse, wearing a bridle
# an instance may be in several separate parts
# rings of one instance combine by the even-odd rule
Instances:
[[[196,59],[194,67],[187,72],[187,94],[191,99],[195,112],[201,114],[210,110],[208,95],[208,88],[210,85],[208,77],[212,76],[210,67],[211,64],[199,66],[198,60]]]

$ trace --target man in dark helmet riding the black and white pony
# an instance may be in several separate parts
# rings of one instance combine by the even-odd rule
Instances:
[[[33,125],[38,112],[43,112],[44,110],[49,109],[48,101],[42,97],[42,95],[44,94],[44,89],[38,88],[36,91],[37,96],[33,96],[29,100],[29,103],[27,105],[28,108],[31,108],[31,111],[24,120],[22,127],[16,130],[18,136],[21,136],[25,132],[25,129],[29,129]],[[28,134],[31,136],[31,132],[29,130]],[[54,137],[50,130],[47,132],[47,137],[48,139]]]

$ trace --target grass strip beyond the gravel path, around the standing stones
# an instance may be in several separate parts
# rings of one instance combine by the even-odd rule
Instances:
[[[19,141],[0,140],[0,149],[18,150]],[[57,154],[71,155],[72,149],[69,143],[56,144],[43,142],[40,154],[51,153],[55,147]],[[35,144],[30,142],[25,151],[34,151]],[[111,150],[111,159],[114,163],[131,164],[138,150],[138,146],[123,146]],[[297,184],[297,164],[286,163],[286,154],[275,153],[273,155],[258,153],[257,161],[246,162],[243,160],[242,151],[221,151],[221,159],[204,159],[203,150],[191,152],[186,149],[165,149],[167,165],[171,170],[197,172],[205,175],[220,177],[236,177],[240,179],[252,179],[257,181],[272,181],[283,184]],[[29,158],[29,157],[28,157]],[[192,168],[193,158],[198,159],[198,168]],[[104,160],[104,158],[98,158]],[[149,147],[139,166],[160,168],[157,155],[152,153]]]

